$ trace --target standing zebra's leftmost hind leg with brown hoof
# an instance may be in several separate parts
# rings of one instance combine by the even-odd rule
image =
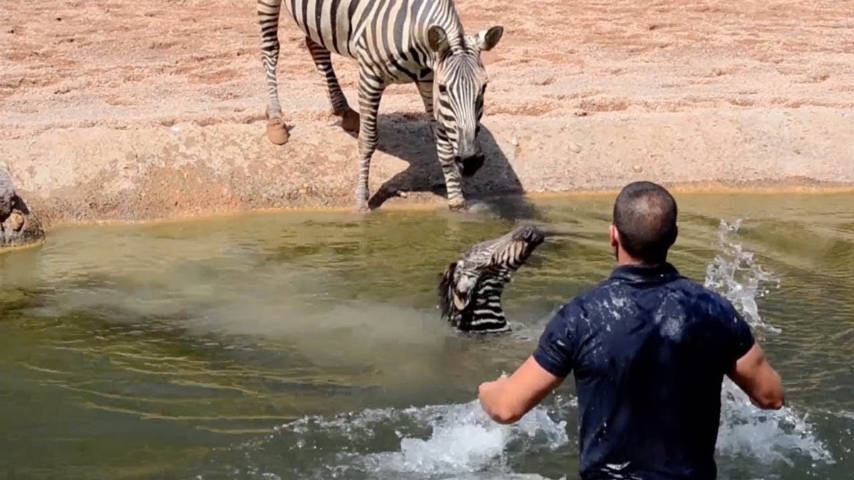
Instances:
[[[278,14],[281,0],[258,2],[258,24],[261,28],[261,62],[267,87],[266,134],[270,142],[277,145],[288,143],[290,133],[282,118],[282,106],[278,102],[276,66],[278,65]]]

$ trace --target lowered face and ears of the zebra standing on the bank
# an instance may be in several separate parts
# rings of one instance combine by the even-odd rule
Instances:
[[[427,31],[433,50],[433,114],[453,148],[453,161],[463,177],[471,177],[483,166],[477,142],[483,117],[483,94],[488,77],[480,54],[498,44],[504,27],[493,26],[477,35],[449,36],[442,26]]]

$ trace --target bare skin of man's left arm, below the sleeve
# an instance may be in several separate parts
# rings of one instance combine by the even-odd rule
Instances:
[[[531,356],[510,377],[502,374],[492,382],[481,383],[477,398],[489,418],[500,424],[513,424],[563,381]]]

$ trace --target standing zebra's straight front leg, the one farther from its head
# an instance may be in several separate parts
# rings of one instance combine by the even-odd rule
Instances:
[[[366,59],[361,58],[364,65]],[[368,208],[368,173],[371,170],[371,157],[377,150],[377,112],[383,99],[383,91],[388,85],[385,79],[377,76],[366,67],[359,68],[359,181],[356,184],[356,211],[366,212]]]

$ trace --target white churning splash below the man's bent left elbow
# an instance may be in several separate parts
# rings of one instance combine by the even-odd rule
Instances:
[[[240,478],[541,479],[513,472],[506,450],[561,448],[569,442],[565,426],[549,418],[544,407],[518,424],[496,424],[477,401],[312,416],[236,448],[249,466],[232,473]],[[377,442],[389,449],[371,452]],[[271,456],[284,456],[290,465]],[[312,465],[298,465],[301,459]]]

